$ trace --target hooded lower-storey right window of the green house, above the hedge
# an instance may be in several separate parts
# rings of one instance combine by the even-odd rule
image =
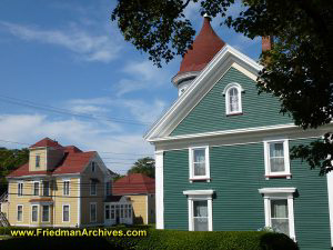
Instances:
[[[295,240],[293,193],[295,188],[263,188],[265,227]]]

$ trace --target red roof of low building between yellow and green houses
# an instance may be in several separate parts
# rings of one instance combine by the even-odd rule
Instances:
[[[132,173],[115,181],[112,187],[112,194],[139,194],[155,193],[155,179],[143,173]]]

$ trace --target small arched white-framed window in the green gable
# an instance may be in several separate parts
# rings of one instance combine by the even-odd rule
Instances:
[[[242,113],[242,87],[239,83],[230,83],[225,87],[223,96],[225,97],[225,113]]]

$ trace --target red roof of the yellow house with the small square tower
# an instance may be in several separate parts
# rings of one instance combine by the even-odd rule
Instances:
[[[47,144],[47,146],[46,146]],[[36,144],[34,147],[54,147],[60,146],[57,141],[52,141],[46,138]],[[10,172],[7,177],[24,177],[24,176],[38,176],[38,174],[61,174],[61,173],[80,173],[83,171],[84,167],[89,163],[91,158],[95,156],[95,151],[82,152],[79,148],[74,146],[68,146],[58,148],[63,151],[63,157],[52,170],[50,171],[29,171],[29,162],[22,164],[18,169]]]

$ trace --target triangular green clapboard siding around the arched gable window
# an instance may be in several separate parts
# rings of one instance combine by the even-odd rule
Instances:
[[[241,116],[225,116],[225,97],[222,92],[231,82],[238,82],[245,91],[242,93]],[[231,68],[171,132],[171,136],[285,123],[293,121],[287,114],[280,113],[279,100],[268,93],[258,96],[255,81]]]

